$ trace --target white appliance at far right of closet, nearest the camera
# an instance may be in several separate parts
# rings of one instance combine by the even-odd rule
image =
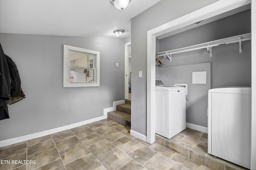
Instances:
[[[251,88],[208,91],[208,153],[250,169]]]

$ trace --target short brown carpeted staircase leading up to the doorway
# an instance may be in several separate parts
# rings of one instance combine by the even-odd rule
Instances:
[[[109,111],[108,119],[121,125],[131,127],[131,100],[125,100],[124,104],[116,106],[115,111]]]

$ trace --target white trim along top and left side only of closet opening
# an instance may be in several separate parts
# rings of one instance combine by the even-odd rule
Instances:
[[[165,33],[175,31],[197,21],[205,20],[235,8],[250,4],[251,0],[219,0],[185,16],[160,25],[147,32],[147,142],[155,141],[155,96],[156,96],[156,37]]]

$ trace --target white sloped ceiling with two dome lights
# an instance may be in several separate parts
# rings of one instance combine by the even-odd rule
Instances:
[[[0,0],[0,33],[130,37],[131,18],[160,0],[131,0],[118,10],[110,0]]]

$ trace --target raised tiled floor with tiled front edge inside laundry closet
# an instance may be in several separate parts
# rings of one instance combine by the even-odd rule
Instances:
[[[214,157],[207,153],[208,134],[193,129],[185,129],[167,139],[156,134],[156,143],[190,158],[213,170],[247,170],[241,166]],[[178,162],[179,160],[176,160]]]

